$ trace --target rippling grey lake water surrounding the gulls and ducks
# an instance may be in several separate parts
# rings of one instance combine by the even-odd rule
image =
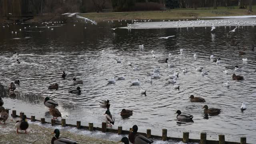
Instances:
[[[139,132],[150,128],[155,135],[161,135],[162,128],[167,128],[168,136],[172,137],[182,137],[182,132],[188,131],[190,138],[196,139],[200,139],[200,132],[207,132],[208,139],[217,140],[218,134],[225,134],[228,141],[239,142],[241,136],[246,136],[247,142],[256,141],[256,51],[251,50],[256,44],[256,28],[240,26],[236,32],[229,33],[234,27],[217,27],[212,34],[210,27],[110,30],[126,26],[125,22],[100,22],[98,26],[65,23],[53,30],[45,25],[0,27],[0,82],[8,86],[20,80],[14,94],[1,88],[5,108],[23,111],[27,116],[35,115],[36,119],[45,117],[50,122],[52,116],[44,106],[44,98],[48,96],[59,103],[58,109],[68,124],[76,124],[78,120],[82,125],[94,122],[94,126],[101,126],[106,109],[100,108],[98,102],[108,99],[110,112],[116,118],[115,129],[122,125],[128,130],[137,124]],[[172,35],[175,37],[158,39]],[[139,48],[140,44],[144,44],[144,48]],[[246,54],[240,56],[239,51],[244,47]],[[182,54],[181,48],[184,49]],[[152,58],[151,50],[156,58]],[[18,56],[13,55],[15,51]],[[169,62],[175,64],[172,68],[158,62],[160,58],[168,58],[169,52],[172,53]],[[197,54],[196,59],[193,54]],[[210,60],[211,54],[221,58],[219,65]],[[16,63],[17,58],[20,64]],[[122,63],[117,63],[115,58],[122,58]],[[248,62],[243,62],[242,58],[248,58]],[[128,62],[141,70],[133,71]],[[235,65],[242,69],[223,73],[225,66]],[[158,66],[162,78],[153,79],[152,84],[146,82],[147,72]],[[208,75],[197,72],[199,66],[210,70]],[[189,72],[183,74],[183,68],[188,68]],[[63,71],[68,73],[65,80],[61,77]],[[177,81],[180,90],[165,84],[168,75],[174,72],[180,73]],[[233,73],[244,76],[245,80],[232,80]],[[116,84],[105,80],[122,74],[126,79],[117,80]],[[84,82],[79,85],[80,95],[68,93],[77,87],[73,78]],[[147,96],[140,94],[140,86],[131,86],[130,81],[137,78],[141,80],[140,86],[147,90]],[[226,81],[230,81],[229,88],[222,86]],[[60,88],[48,90],[54,82]],[[191,94],[206,102],[190,102]],[[244,112],[240,110],[242,102],[248,107]],[[220,108],[222,112],[206,119],[202,109],[205,104],[209,108]],[[133,116],[122,118],[123,108],[134,110]],[[192,114],[194,123],[178,122],[176,110]]]

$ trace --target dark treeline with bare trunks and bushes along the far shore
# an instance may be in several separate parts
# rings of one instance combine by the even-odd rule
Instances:
[[[102,12],[160,10],[160,8],[198,8],[217,6],[240,6],[247,8],[256,0],[0,0],[0,15],[35,16],[65,12]]]

